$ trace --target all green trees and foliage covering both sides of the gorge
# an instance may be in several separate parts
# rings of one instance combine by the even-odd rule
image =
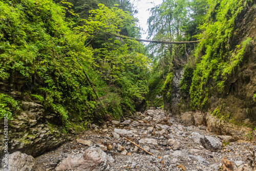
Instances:
[[[252,38],[237,44],[231,38],[238,15],[252,3],[163,0],[150,10],[148,38],[201,42],[144,47],[114,36],[140,37],[129,1],[0,0],[0,82],[25,80],[18,97],[0,91],[0,119],[22,112],[22,100],[58,113],[66,127],[131,114],[141,101],[163,106],[162,95],[170,105],[173,72],[181,68],[182,102],[207,110],[212,91],[223,94],[249,51]]]

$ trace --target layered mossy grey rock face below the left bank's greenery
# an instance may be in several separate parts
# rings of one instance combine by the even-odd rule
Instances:
[[[23,111],[20,115],[9,120],[9,149],[10,153],[20,151],[32,156],[38,156],[49,149],[63,143],[69,134],[63,134],[62,124],[51,124],[44,117],[45,109],[33,101],[23,101]],[[2,122],[2,121],[1,121]],[[0,130],[3,130],[1,124]],[[60,129],[62,127],[62,129]],[[0,154],[4,153],[4,137],[0,136]]]

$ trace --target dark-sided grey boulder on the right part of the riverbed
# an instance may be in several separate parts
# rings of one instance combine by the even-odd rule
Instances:
[[[200,138],[200,142],[206,149],[209,149],[212,152],[217,152],[222,148],[222,142],[215,137],[204,136]]]

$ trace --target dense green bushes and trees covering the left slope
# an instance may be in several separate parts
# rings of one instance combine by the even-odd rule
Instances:
[[[95,3],[79,16],[81,7],[65,1],[0,1],[0,79],[26,80],[20,98],[1,92],[0,118],[18,115],[24,99],[59,113],[67,127],[135,111],[134,101],[148,91],[148,59],[137,41],[111,33],[138,36],[136,19],[117,5]]]

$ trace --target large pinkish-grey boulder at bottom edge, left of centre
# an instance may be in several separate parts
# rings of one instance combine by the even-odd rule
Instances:
[[[60,170],[98,170],[107,171],[110,164],[114,162],[111,156],[108,156],[99,147],[89,147],[84,153],[70,155],[55,168]]]

